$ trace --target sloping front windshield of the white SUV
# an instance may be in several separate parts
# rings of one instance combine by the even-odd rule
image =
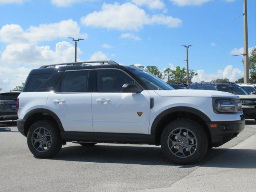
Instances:
[[[138,77],[149,90],[173,90],[170,85],[164,82],[162,79],[153,75],[150,72],[142,70],[130,70],[136,77]]]

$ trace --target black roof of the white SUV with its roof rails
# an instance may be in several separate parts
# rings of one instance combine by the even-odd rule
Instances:
[[[98,65],[90,65],[90,63],[97,63]],[[105,64],[107,63],[107,64]],[[33,69],[30,71],[31,74],[46,74],[46,73],[55,73],[58,71],[67,71],[67,70],[81,70],[81,69],[98,69],[98,68],[117,68],[117,69],[131,69],[131,70],[142,70],[138,67],[133,66],[123,66],[119,65],[114,61],[90,61],[90,62],[74,62],[74,63],[63,63],[63,64],[53,64],[53,65],[44,65],[38,69]]]

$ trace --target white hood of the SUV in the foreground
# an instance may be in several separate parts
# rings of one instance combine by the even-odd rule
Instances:
[[[223,92],[210,90],[194,90],[194,89],[176,89],[176,90],[154,90],[158,95],[163,97],[228,97],[238,98],[238,96]]]

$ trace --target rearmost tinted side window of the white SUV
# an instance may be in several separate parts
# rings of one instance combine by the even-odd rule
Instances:
[[[26,92],[35,92],[50,78],[50,76],[52,76],[52,74],[49,73],[31,75],[28,85],[26,85]]]

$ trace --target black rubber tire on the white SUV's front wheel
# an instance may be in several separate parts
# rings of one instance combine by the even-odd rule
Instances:
[[[174,146],[174,144],[171,143],[172,146],[174,146],[174,147],[171,146],[171,149],[176,151],[173,152],[169,149],[169,146],[170,146],[169,136],[174,136],[174,134],[171,134],[171,133],[173,133],[173,131],[175,132],[176,130],[179,131],[179,128],[180,130],[183,130],[182,128],[186,128],[188,131],[190,131],[190,133],[193,133],[196,138],[196,144],[197,144],[196,150],[194,150],[194,148],[191,148],[192,150],[194,150],[192,153],[191,153],[191,150],[189,152],[186,151],[188,150],[186,146],[182,148],[182,153],[184,154],[185,152],[186,154],[189,154],[188,157],[186,157],[185,155],[183,156],[183,158],[178,157],[177,155],[179,154],[179,152],[178,154],[174,155],[174,153],[178,151],[178,147],[179,147],[178,145],[180,145],[180,143],[177,144],[176,146]],[[174,136],[174,138],[176,138],[176,136]],[[200,126],[200,124],[198,124],[197,122],[194,122],[190,119],[185,119],[185,118],[177,119],[165,126],[161,134],[161,148],[165,156],[175,164],[194,164],[200,161],[206,154],[208,149],[208,138],[202,126]]]

